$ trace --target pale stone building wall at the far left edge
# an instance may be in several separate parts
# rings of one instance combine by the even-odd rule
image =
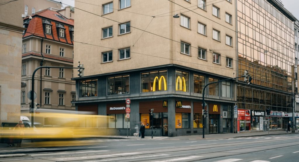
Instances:
[[[20,120],[22,9],[24,1],[0,3],[0,123]],[[14,10],[11,10],[14,8]]]

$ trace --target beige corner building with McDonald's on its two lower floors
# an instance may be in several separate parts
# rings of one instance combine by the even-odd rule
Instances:
[[[74,61],[85,68],[85,77],[75,78],[76,110],[108,115],[111,134],[126,135],[127,122],[130,134],[140,122],[146,135],[151,127],[154,136],[202,134],[205,85],[237,77],[235,1],[75,5]],[[233,131],[234,86],[228,80],[205,89],[207,133]]]

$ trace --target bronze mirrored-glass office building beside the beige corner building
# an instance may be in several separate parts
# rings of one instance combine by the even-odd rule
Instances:
[[[253,78],[253,85],[237,85],[237,106],[277,112],[265,118],[270,129],[283,129],[283,120],[288,119],[277,114],[292,112],[294,21],[277,1],[237,0],[238,74],[242,76],[248,70]],[[262,130],[259,118],[246,118],[244,123],[250,123],[247,129]]]

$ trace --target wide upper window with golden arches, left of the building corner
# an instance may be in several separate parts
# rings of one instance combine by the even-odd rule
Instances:
[[[141,92],[167,91],[167,70],[141,73]]]

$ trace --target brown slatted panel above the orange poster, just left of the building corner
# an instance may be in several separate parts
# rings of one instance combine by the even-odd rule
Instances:
[[[167,107],[163,107],[163,101],[150,101],[139,103],[139,113],[149,113],[150,109],[154,109],[155,112],[168,112]]]

